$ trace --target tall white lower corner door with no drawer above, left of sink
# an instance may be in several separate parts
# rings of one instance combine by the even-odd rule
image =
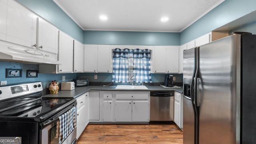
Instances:
[[[100,92],[89,92],[89,120],[100,120]]]

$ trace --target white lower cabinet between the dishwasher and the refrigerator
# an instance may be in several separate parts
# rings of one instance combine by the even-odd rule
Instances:
[[[174,122],[179,128],[183,128],[183,94],[174,94]]]

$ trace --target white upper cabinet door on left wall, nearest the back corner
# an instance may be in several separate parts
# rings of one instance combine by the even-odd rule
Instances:
[[[84,45],[74,40],[74,72],[84,71]]]

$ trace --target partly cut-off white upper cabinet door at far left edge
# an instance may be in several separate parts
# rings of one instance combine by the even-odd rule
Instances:
[[[6,40],[7,0],[0,1],[0,40]]]

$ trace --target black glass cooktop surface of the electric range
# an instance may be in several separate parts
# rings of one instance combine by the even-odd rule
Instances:
[[[27,99],[27,98],[24,98]],[[20,101],[24,101],[20,99]],[[63,107],[73,98],[41,98],[18,107],[0,112],[0,117],[39,118],[45,114]]]

